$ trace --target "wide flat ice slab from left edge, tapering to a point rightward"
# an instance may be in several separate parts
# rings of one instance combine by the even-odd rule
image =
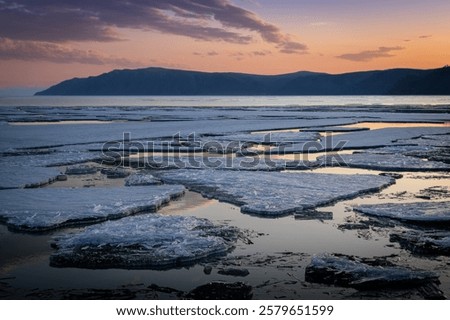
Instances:
[[[44,188],[0,191],[0,220],[15,230],[39,232],[156,211],[184,187]]]

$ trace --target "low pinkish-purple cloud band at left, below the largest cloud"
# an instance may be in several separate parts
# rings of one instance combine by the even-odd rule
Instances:
[[[92,50],[79,50],[66,45],[42,42],[21,41],[0,38],[0,59],[2,60],[41,60],[55,63],[84,63],[93,65],[112,64],[122,67],[136,67],[136,61],[104,55]]]

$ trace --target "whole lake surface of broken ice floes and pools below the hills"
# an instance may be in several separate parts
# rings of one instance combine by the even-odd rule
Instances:
[[[450,297],[448,97],[33,99],[2,299]]]

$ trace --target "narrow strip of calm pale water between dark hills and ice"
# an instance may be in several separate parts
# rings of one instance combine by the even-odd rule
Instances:
[[[0,96],[0,107],[302,107],[360,105],[450,107],[450,96]]]

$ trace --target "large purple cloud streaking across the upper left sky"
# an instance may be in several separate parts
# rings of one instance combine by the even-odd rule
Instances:
[[[120,28],[238,44],[251,43],[258,34],[286,53],[307,49],[276,25],[229,0],[0,1],[0,36],[10,39],[117,41]]]

